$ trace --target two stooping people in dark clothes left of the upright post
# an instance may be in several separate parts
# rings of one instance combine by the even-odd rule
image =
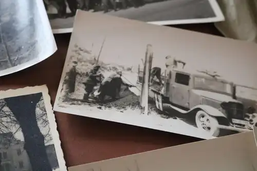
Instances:
[[[86,81],[83,83],[85,85],[83,101],[88,101],[90,95],[95,97],[94,91],[97,85],[100,85],[97,90],[97,100],[101,103],[104,102],[106,96],[111,97],[113,100],[119,99],[122,85],[133,87],[133,85],[124,83],[122,81],[121,71],[116,70],[112,74],[108,75],[108,77],[104,78],[103,75],[98,72],[99,69],[100,66],[95,65],[89,72],[86,73]]]

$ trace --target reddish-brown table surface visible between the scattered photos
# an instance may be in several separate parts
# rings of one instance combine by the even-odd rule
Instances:
[[[176,25],[221,35],[213,24]],[[53,105],[66,58],[70,34],[55,35],[58,51],[45,61],[0,78],[0,90],[46,84]],[[159,130],[55,112],[66,166],[75,166],[201,139]]]

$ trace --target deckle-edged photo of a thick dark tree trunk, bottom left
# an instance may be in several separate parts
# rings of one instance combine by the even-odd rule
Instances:
[[[0,91],[1,171],[67,170],[45,85]]]

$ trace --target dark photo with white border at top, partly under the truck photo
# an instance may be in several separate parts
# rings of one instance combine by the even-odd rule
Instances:
[[[71,32],[77,9],[157,25],[224,21],[216,0],[44,0],[53,33]]]

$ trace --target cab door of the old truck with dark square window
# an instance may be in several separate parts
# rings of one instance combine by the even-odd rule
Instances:
[[[189,108],[189,83],[190,75],[185,73],[176,73],[175,79],[171,84],[170,101],[181,107]]]

